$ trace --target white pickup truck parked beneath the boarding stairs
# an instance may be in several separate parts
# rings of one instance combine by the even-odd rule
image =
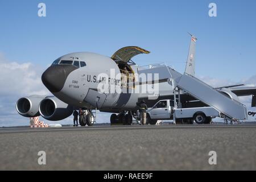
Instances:
[[[189,107],[174,109],[173,100],[160,100],[147,110],[147,123],[155,125],[158,120],[174,119],[176,123],[210,123],[212,118],[220,117],[220,111],[214,107]]]

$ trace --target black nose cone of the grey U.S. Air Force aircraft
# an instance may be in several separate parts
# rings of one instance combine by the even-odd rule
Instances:
[[[60,92],[69,73],[77,69],[73,65],[53,65],[42,75],[42,82],[51,92]]]

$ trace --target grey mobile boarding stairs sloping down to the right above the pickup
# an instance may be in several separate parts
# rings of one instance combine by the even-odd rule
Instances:
[[[214,107],[216,110],[220,111],[221,117],[225,120],[233,121],[248,118],[246,106],[241,102],[218,92],[218,90],[196,77],[175,71],[166,64],[151,65],[150,68],[147,69],[138,69],[138,73],[152,73],[152,75],[158,73],[158,81],[166,80],[172,85],[173,90],[176,90],[176,88],[181,89],[197,100]],[[147,81],[154,81],[153,76],[147,79]]]

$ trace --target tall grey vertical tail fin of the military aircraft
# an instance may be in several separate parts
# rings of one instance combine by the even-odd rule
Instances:
[[[188,33],[189,34],[189,33]],[[191,35],[191,34],[189,34]],[[187,65],[185,73],[195,76],[195,64],[196,64],[196,40],[197,38],[191,35],[191,43],[188,51]]]

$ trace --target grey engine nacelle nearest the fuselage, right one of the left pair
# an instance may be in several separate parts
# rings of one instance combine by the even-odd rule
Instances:
[[[66,104],[56,97],[46,97],[40,102],[39,113],[44,119],[59,121],[73,113],[73,106]]]

